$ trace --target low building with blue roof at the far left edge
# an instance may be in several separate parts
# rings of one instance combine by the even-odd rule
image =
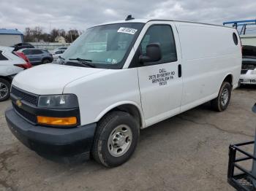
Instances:
[[[17,29],[0,28],[0,46],[10,47],[23,42],[23,34]]]

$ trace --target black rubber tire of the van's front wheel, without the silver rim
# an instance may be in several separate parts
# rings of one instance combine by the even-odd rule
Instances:
[[[119,125],[127,125],[132,132],[132,141],[127,148],[127,151],[124,152],[121,156],[113,156],[110,153],[108,145],[108,139],[110,134],[117,128]],[[113,134],[113,133],[112,133]],[[135,148],[138,144],[138,139],[140,136],[139,123],[127,112],[110,112],[106,114],[102,120],[99,121],[97,131],[94,136],[94,146],[92,148],[92,156],[97,163],[101,163],[106,167],[115,167],[125,163],[129,160],[129,157],[132,156],[135,152]]]

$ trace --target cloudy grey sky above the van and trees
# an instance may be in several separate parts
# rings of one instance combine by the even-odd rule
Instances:
[[[256,19],[255,0],[0,0],[0,28],[40,26],[65,30],[86,28],[113,20],[165,18],[220,24]]]

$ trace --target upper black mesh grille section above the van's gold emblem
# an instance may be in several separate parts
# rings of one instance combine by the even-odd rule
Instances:
[[[27,93],[23,90],[19,90],[17,87],[14,87],[14,86],[12,86],[11,93],[16,97],[22,99],[23,101],[26,101],[27,103],[32,104],[34,106],[37,106],[37,100],[38,100],[37,95],[34,95],[32,93]]]

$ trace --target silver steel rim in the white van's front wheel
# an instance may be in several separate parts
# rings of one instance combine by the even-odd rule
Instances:
[[[124,155],[132,143],[132,130],[127,125],[118,125],[108,138],[108,151],[114,157]]]

